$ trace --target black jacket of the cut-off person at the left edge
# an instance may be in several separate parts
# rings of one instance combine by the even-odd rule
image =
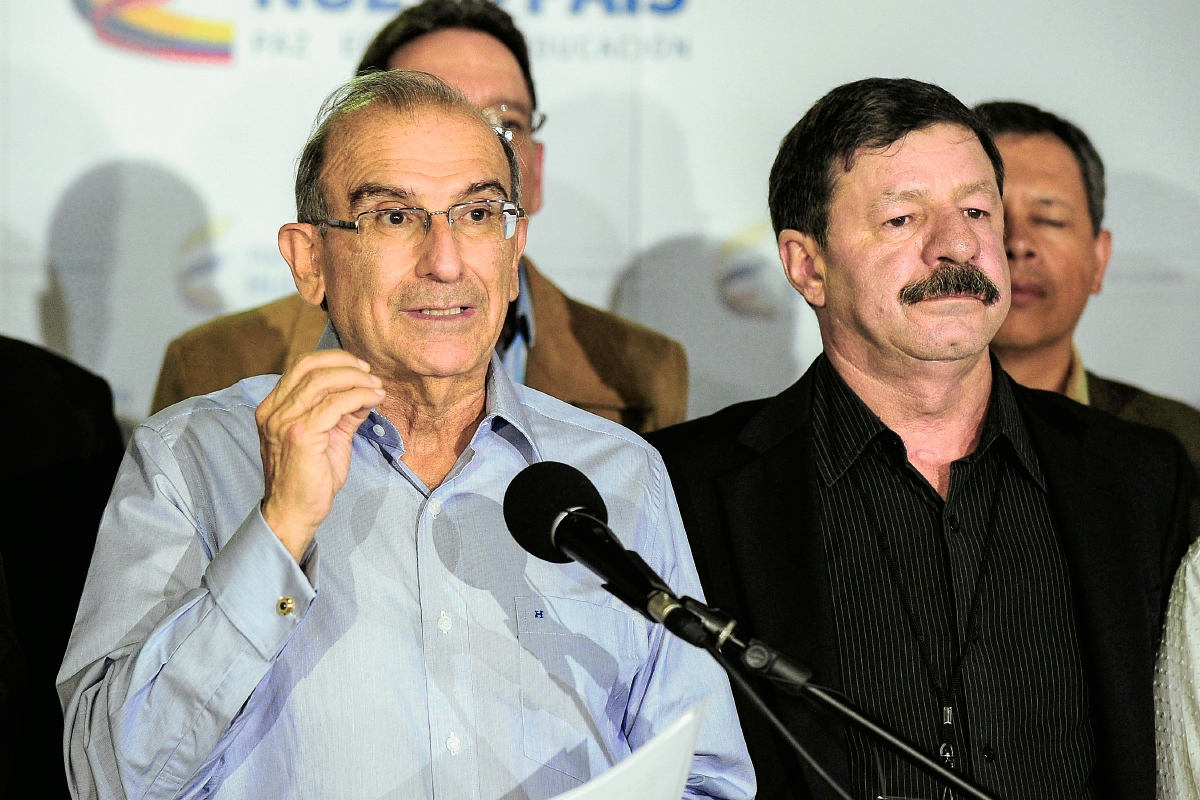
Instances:
[[[12,777],[29,796],[66,798],[62,709],[54,678],[125,446],[108,384],[26,342],[0,336],[0,553],[24,652]],[[4,787],[0,786],[0,796]]]

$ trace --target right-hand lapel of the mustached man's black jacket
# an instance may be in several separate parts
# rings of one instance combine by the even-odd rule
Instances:
[[[1019,397],[1075,599],[1096,732],[1092,783],[1098,796],[1150,800],[1154,645],[1124,488],[1108,459],[1087,447],[1082,420],[1062,415],[1051,421],[1031,405],[1026,392]]]

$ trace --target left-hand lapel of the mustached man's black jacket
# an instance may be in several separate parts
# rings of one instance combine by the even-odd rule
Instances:
[[[733,569],[743,577],[743,633],[812,669],[817,684],[840,688],[809,419],[811,386],[810,371],[751,419],[738,441],[757,457],[722,475],[718,488]],[[784,722],[845,784],[848,760],[840,726],[806,703],[773,694]],[[780,756],[794,776],[794,757],[782,748]],[[806,764],[800,769],[814,798],[834,796]]]

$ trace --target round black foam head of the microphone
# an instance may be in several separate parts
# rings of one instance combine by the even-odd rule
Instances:
[[[588,476],[570,464],[544,461],[521,470],[504,492],[504,522],[512,539],[527,553],[544,561],[565,564],[551,539],[558,515],[580,509],[600,522],[608,522],[604,498]]]

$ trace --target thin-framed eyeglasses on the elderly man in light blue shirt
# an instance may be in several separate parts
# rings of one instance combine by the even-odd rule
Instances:
[[[464,243],[498,242],[512,239],[524,209],[509,200],[472,200],[445,211],[428,209],[379,209],[364,211],[354,219],[325,219],[332,228],[353,230],[360,236],[386,243],[416,247],[430,233],[433,217],[444,213],[455,240]]]

